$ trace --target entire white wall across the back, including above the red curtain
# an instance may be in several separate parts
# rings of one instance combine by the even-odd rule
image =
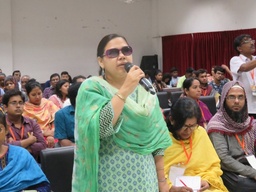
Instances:
[[[256,27],[254,0],[0,0],[0,68],[36,77],[52,73],[97,75],[96,48],[110,33],[124,35],[143,55],[159,56],[162,39],[173,34]]]

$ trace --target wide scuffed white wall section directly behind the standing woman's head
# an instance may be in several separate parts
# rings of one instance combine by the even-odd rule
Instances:
[[[152,52],[150,0],[11,0],[11,19],[13,70],[40,82],[62,71],[97,75],[96,49],[107,34],[126,37],[135,64]]]

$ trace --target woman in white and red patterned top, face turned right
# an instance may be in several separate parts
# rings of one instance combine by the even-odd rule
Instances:
[[[66,79],[59,80],[53,91],[53,95],[49,98],[49,101],[52,101],[60,109],[63,108],[63,103],[68,99],[67,89],[69,88],[69,84],[69,81]]]

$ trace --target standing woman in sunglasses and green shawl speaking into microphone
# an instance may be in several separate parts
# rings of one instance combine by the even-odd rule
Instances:
[[[172,144],[157,97],[139,80],[123,36],[105,36],[97,49],[102,76],[81,85],[76,103],[72,191],[168,192],[163,150]]]

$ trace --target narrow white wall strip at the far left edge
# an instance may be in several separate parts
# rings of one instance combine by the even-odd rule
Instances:
[[[11,31],[11,1],[0,1],[0,69],[11,74],[12,67],[12,31]]]

